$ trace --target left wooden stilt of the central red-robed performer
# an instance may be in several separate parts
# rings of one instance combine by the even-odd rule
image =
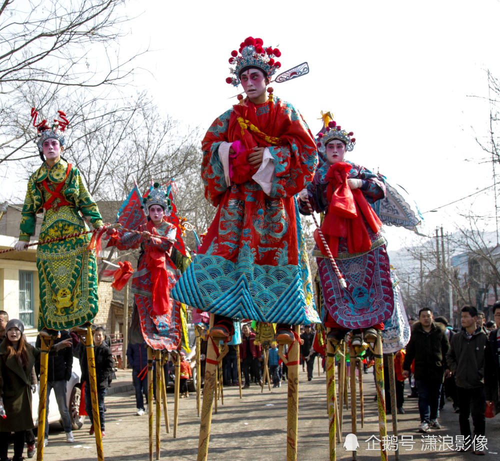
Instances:
[[[213,326],[213,314],[210,314],[210,328]],[[206,461],[208,456],[208,442],[212,422],[213,395],[215,392],[215,374],[217,370],[217,351],[212,340],[208,337],[206,346],[205,383],[203,386],[203,400],[201,405],[201,420],[199,424],[198,456],[197,461]]]

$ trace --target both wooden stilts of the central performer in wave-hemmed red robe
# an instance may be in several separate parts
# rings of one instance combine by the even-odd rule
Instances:
[[[213,314],[210,314],[210,328],[213,326]],[[294,327],[295,334],[299,333],[299,326]],[[206,461],[208,456],[208,442],[210,438],[211,417],[213,409],[213,396],[215,394],[216,370],[221,362],[223,352],[218,351],[218,339],[208,340],[206,350],[205,383],[203,387],[203,402],[201,406],[201,421],[199,426],[198,461]],[[283,352],[284,344],[278,346],[278,355],[283,363],[288,366],[288,407],[286,427],[286,459],[295,461],[297,459],[297,427],[298,427],[298,340],[290,341],[288,354]]]

